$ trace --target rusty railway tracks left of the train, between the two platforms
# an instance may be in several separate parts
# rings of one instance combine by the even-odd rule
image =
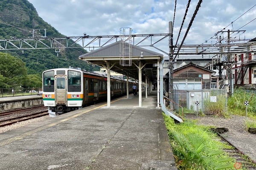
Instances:
[[[43,105],[2,112],[0,113],[0,127],[45,115],[48,115],[48,109],[46,109],[46,107]]]

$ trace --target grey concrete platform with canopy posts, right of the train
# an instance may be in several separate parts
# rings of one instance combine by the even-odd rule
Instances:
[[[4,170],[177,170],[156,91],[0,134]]]

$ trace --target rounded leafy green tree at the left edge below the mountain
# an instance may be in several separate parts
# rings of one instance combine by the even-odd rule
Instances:
[[[0,88],[12,88],[26,82],[26,63],[10,54],[0,52]]]

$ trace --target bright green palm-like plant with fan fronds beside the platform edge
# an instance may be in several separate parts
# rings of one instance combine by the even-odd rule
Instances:
[[[206,141],[200,134],[189,134],[186,138],[183,134],[173,132],[172,137],[175,140],[173,148],[178,159],[177,165],[183,170],[220,170],[233,167],[233,164],[227,164],[232,159],[218,157],[222,153],[220,150],[206,150]]]

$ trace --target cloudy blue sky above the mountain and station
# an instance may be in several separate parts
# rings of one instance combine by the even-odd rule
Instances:
[[[169,33],[169,21],[173,21],[175,9],[175,0],[29,0],[29,2],[36,8],[39,17],[61,34],[70,37],[82,36],[83,33],[90,36],[119,35],[119,29],[123,27],[132,28],[132,34]],[[188,0],[177,0],[173,29],[174,45],[176,42],[180,44],[183,40],[198,0],[191,0],[177,41],[187,3]],[[215,33],[223,28],[226,31],[246,30],[244,33],[233,33],[231,36],[236,39],[256,37],[255,5],[255,0],[203,0],[184,43],[186,45],[215,43],[217,42]],[[225,37],[226,33],[218,34],[220,35]],[[168,53],[169,40],[158,42],[156,47]],[[148,49],[156,51],[152,47]]]

